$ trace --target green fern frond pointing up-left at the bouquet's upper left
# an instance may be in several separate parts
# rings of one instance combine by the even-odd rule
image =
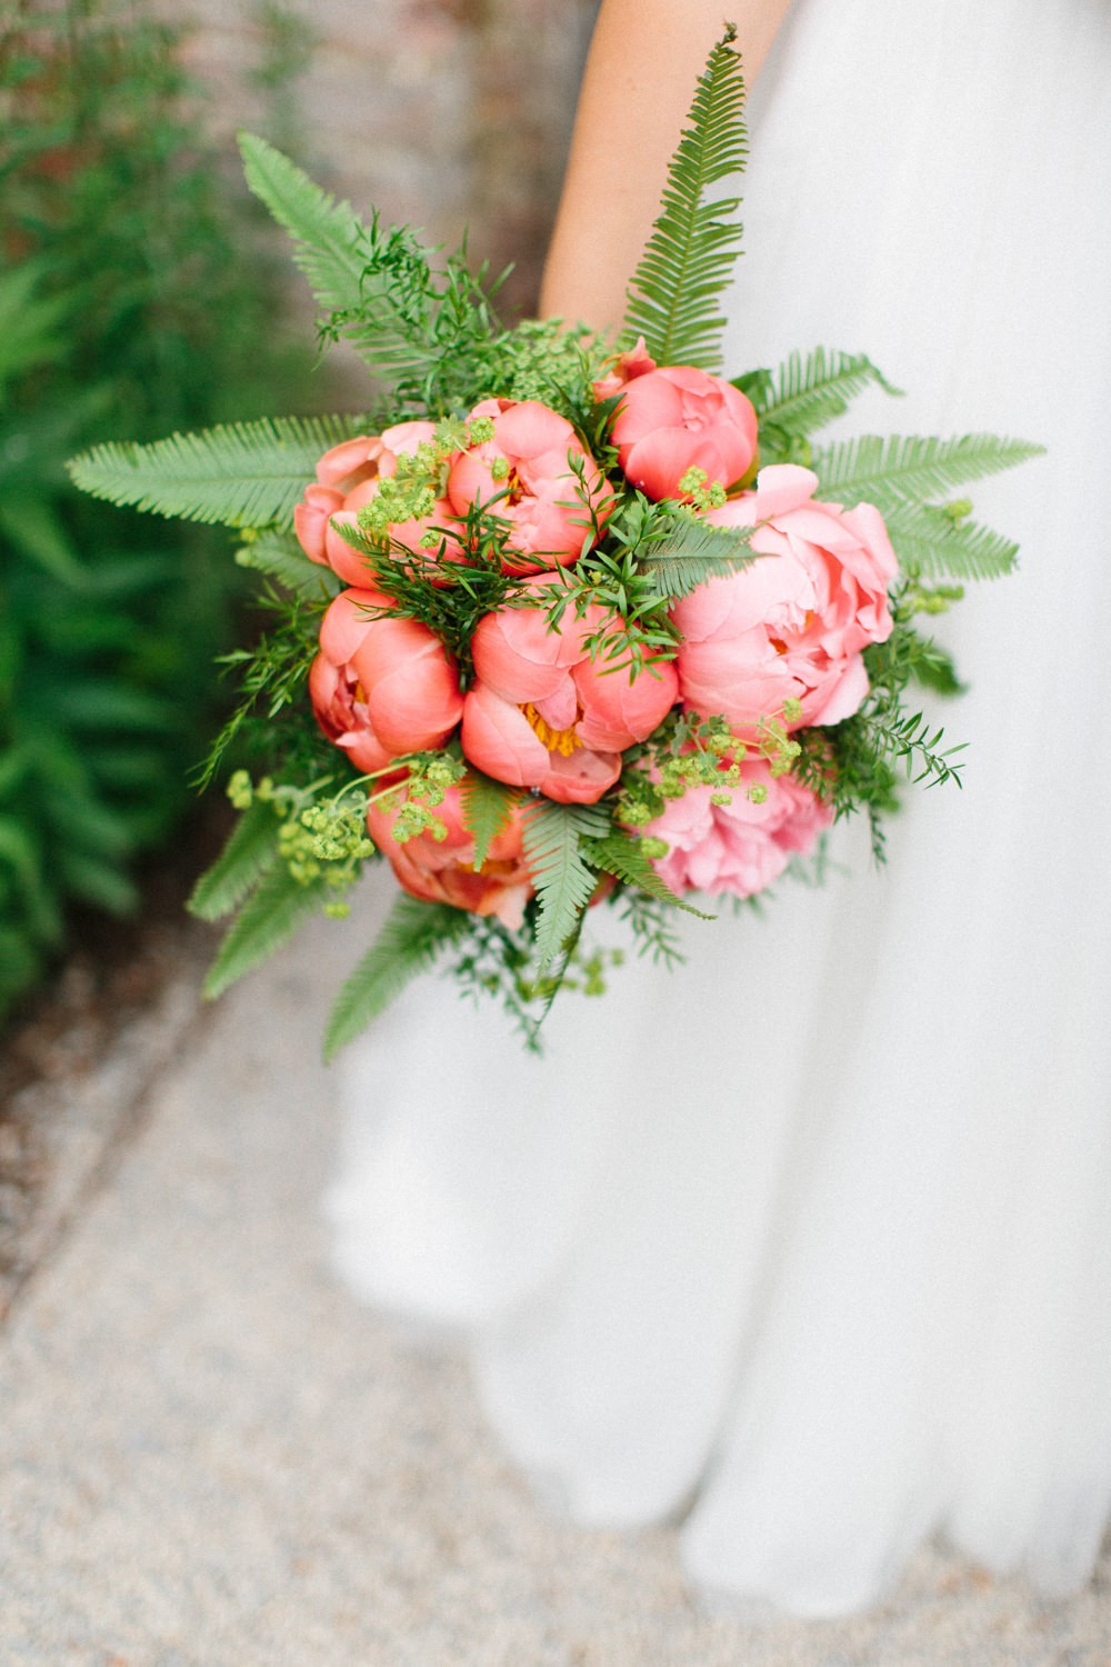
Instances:
[[[380,232],[376,217],[365,225],[263,138],[242,133],[240,148],[247,183],[293,238],[325,328],[391,383],[420,373],[433,343],[413,300],[431,290],[430,252],[405,228]]]

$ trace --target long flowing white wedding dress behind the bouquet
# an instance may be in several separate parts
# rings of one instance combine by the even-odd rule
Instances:
[[[1066,1590],[1111,1509],[1111,10],[798,0],[750,118],[730,367],[864,350],[909,395],[844,432],[1049,445],[973,492],[1023,570],[944,622],[966,788],[545,1062],[411,989],[343,1065],[336,1259],[706,1592],[849,1610],[934,1532]]]

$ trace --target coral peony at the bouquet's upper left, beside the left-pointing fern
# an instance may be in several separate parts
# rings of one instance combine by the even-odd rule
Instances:
[[[330,567],[346,585],[366,585],[371,578],[366,558],[336,527],[353,527],[358,510],[371,502],[380,482],[396,473],[398,457],[415,453],[433,433],[435,425],[430,422],[400,422],[380,435],[358,435],[325,452],[316,463],[316,480],[305,488],[305,497],[293,510],[293,530],[305,555]],[[425,550],[421,538],[431,528],[450,527],[451,520],[451,505],[446,498],[438,498],[428,515],[390,522],[388,535],[408,550],[435,557],[436,552]],[[455,538],[446,538],[440,558],[461,560]]]

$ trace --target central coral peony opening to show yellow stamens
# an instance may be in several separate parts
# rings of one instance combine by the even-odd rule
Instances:
[[[591,662],[586,637],[606,618],[598,607],[581,620],[568,608],[551,632],[543,608],[498,608],[478,622],[460,735],[471,763],[561,803],[595,803],[613,787],[621,752],[646,740],[675,705],[678,677],[668,660],[631,680],[628,670]]]

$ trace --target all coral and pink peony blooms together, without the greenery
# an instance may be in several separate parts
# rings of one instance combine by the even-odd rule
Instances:
[[[645,832],[665,842],[656,869],[676,894],[746,897],[793,852],[813,849],[830,822],[818,795],[770,770],[751,743],[768,722],[828,725],[859,707],[863,650],[891,632],[891,545],[868,505],[818,502],[806,468],[768,467],[750,487],[756,415],[718,377],[656,367],[638,343],[595,395],[610,402],[611,478],[571,423],[538,400],[483,400],[448,443],[433,423],[406,422],[325,453],[295,527],[305,553],[348,588],[323,618],[313,708],[366,775],[388,777],[398,763],[401,778],[406,755],[450,743],[485,777],[566,805],[616,792],[670,713],[725,720],[736,738],[723,762],[733,763],[731,788],[691,785]],[[693,482],[716,497],[698,500]],[[550,607],[560,570],[603,543],[631,493],[676,513],[688,503],[683,513],[711,525],[755,528],[758,558],[675,600],[676,647],[630,665],[606,653],[626,625],[613,605],[588,593],[555,625]],[[496,528],[496,560],[518,583],[478,618],[463,678],[430,625],[400,610],[370,548],[420,558],[436,585],[460,582],[460,563],[478,558],[475,512]],[[396,807],[371,795],[371,839],[408,892],[520,924],[531,895],[520,803],[478,870],[456,788],[438,837],[401,842],[395,822]]]

